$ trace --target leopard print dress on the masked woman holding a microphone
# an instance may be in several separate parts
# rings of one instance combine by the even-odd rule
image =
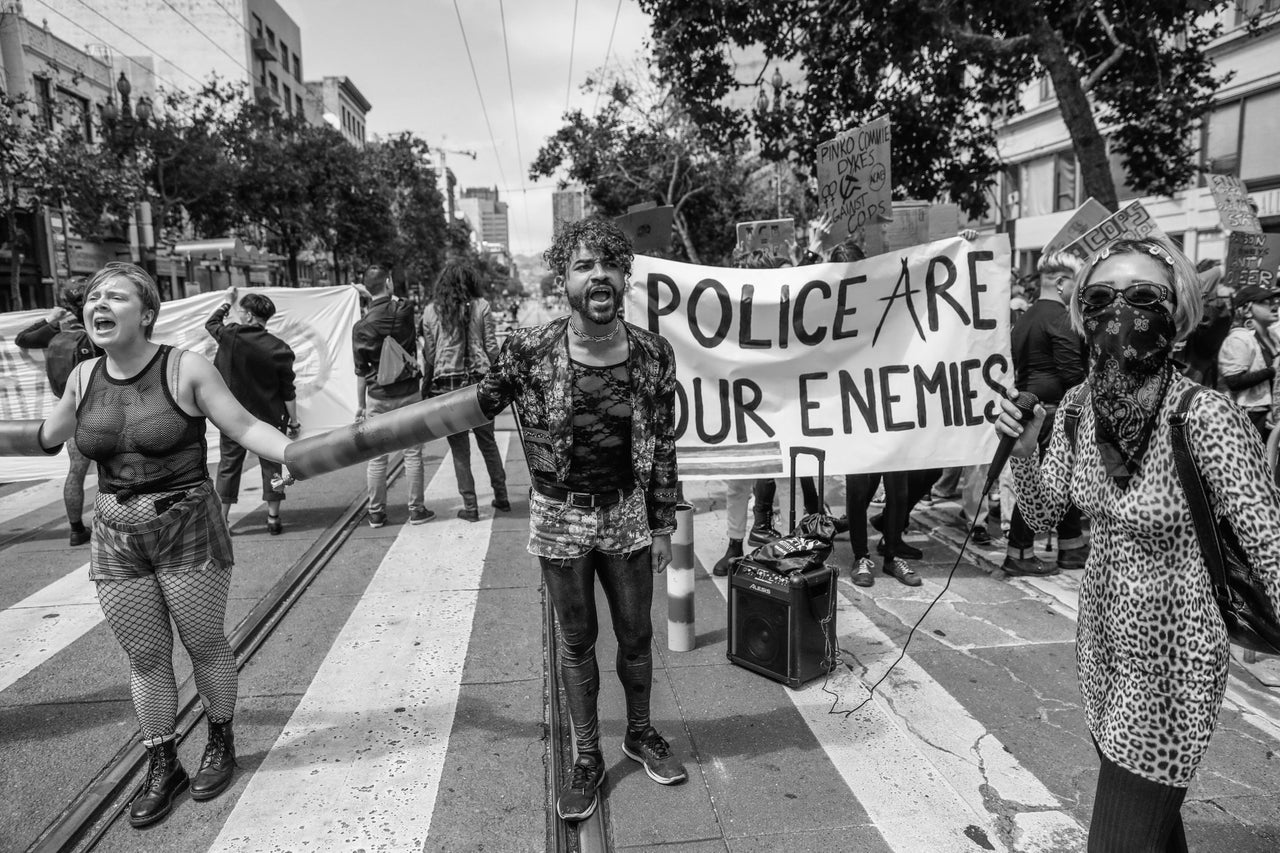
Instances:
[[[1076,628],[1089,731],[1121,767],[1178,788],[1190,785],[1208,748],[1230,662],[1174,467],[1169,416],[1192,384],[1183,377],[1170,383],[1128,489],[1105,473],[1092,406],[1080,412],[1074,450],[1059,418],[1039,466],[1012,460],[1018,503],[1034,529],[1051,529],[1069,494],[1093,520]],[[1064,403],[1078,402],[1083,389]],[[1231,519],[1280,602],[1280,492],[1257,430],[1229,398],[1202,391],[1188,411],[1187,437],[1215,516]]]

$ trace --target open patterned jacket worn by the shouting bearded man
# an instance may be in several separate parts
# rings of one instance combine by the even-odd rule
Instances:
[[[662,337],[623,323],[631,353],[631,466],[645,489],[649,528],[676,529],[676,355]],[[493,418],[516,406],[529,467],[564,482],[573,439],[568,318],[516,329],[480,382],[480,406]]]

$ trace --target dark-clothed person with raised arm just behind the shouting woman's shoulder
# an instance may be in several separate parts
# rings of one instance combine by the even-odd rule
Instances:
[[[246,293],[239,301],[239,323],[225,323],[236,305],[236,288],[227,291],[227,301],[214,309],[205,329],[218,341],[214,366],[232,394],[259,420],[274,425],[289,438],[297,438],[297,392],[293,387],[293,350],[266,330],[275,316],[275,302],[261,293]],[[232,505],[239,500],[244,448],[227,433],[219,442],[218,498],[223,502],[223,519],[230,523]],[[280,501],[284,491],[271,484],[280,476],[280,465],[269,459],[259,460],[262,475],[262,500],[266,501],[266,530],[273,537],[284,530],[280,523]]]

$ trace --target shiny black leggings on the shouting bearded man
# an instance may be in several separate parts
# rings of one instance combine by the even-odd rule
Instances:
[[[613,634],[618,640],[618,680],[627,699],[627,730],[649,726],[653,689],[653,570],[649,548],[628,555],[589,551],[577,560],[539,557],[547,594],[561,626],[561,681],[568,698],[577,751],[600,752],[600,716],[596,694],[600,670],[595,663],[595,578],[609,602]]]

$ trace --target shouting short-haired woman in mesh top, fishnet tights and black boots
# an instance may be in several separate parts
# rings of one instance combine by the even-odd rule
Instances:
[[[41,428],[45,447],[74,435],[97,462],[90,578],[129,658],[133,707],[150,763],[129,822],[161,820],[191,785],[193,799],[232,781],[236,658],[224,619],[232,542],[205,460],[205,419],[262,459],[288,439],[237,402],[209,361],[151,341],[160,292],[142,269],[108,264],[88,282],[84,325],[105,355],[76,365]],[[195,779],[178,762],[170,620],[191,657],[209,717]]]

